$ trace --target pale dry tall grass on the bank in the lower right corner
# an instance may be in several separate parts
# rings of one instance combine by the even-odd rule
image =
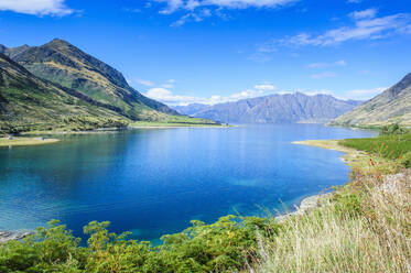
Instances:
[[[411,175],[363,176],[260,241],[250,272],[411,272]]]

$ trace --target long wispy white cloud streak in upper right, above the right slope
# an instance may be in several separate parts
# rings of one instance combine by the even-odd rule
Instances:
[[[332,29],[323,34],[300,33],[281,40],[270,41],[271,47],[286,46],[327,46],[353,40],[379,40],[398,33],[408,33],[411,28],[411,17],[397,13],[387,17],[376,17],[377,10],[368,9],[349,13],[354,25]]]

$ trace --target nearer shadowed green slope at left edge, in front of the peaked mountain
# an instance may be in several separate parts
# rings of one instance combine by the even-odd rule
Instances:
[[[37,78],[0,53],[0,132],[121,127],[121,109]]]

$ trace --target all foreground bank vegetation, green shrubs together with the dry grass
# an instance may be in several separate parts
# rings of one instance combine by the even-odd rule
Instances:
[[[407,153],[402,144],[390,148]],[[23,241],[0,244],[0,272],[411,272],[411,172],[387,160],[401,173],[386,176],[376,154],[351,155],[361,162],[353,165],[351,182],[304,215],[192,221],[159,247],[110,233],[108,222],[90,222],[80,243],[52,221]]]

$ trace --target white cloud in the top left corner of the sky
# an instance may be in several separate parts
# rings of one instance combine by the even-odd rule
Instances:
[[[33,15],[68,15],[73,9],[64,4],[65,0],[0,0],[0,10]]]

